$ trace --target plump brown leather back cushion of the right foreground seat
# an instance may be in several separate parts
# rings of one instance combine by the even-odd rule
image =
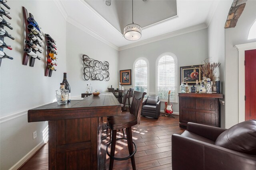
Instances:
[[[215,145],[256,155],[256,120],[244,121],[230,127],[218,136]]]

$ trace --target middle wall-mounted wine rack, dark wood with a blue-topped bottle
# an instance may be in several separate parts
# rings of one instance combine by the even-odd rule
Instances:
[[[36,59],[40,60],[40,57],[38,57],[36,52],[42,53],[42,50],[37,47],[37,45],[42,47],[42,42],[40,42],[40,40],[43,40],[42,33],[40,31],[41,28],[39,27],[38,23],[36,22],[36,20],[34,20],[34,16],[31,13],[29,13],[28,15],[28,10],[24,6],[22,7],[22,12],[26,30],[26,40],[22,64],[27,65],[28,59],[30,57],[29,66],[33,67]],[[38,40],[38,38],[40,40]]]

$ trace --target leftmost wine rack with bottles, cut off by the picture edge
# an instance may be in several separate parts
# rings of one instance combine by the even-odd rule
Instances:
[[[5,6],[8,10],[10,10],[11,8],[6,4],[6,0],[0,0],[0,4]],[[0,66],[2,64],[2,59],[13,59],[12,57],[9,57],[8,55],[6,55],[6,53],[4,53],[4,48],[7,48],[9,50],[12,50],[10,45],[6,45],[6,43],[4,42],[4,37],[9,37],[10,39],[14,40],[14,37],[12,37],[12,35],[10,35],[5,29],[5,27],[8,27],[9,29],[13,29],[10,26],[10,23],[8,23],[3,16],[6,16],[6,18],[8,19],[12,19],[8,14],[10,14],[9,12],[7,12],[6,10],[4,10],[4,8],[0,7]]]

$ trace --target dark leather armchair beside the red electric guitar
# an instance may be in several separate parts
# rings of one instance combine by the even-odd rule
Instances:
[[[159,118],[161,101],[158,96],[148,96],[142,103],[142,116]]]

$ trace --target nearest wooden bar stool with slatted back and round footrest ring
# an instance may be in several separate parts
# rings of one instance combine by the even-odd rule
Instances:
[[[137,92],[134,91],[132,96],[132,105],[130,109],[130,113],[122,113],[122,115],[118,116],[110,116],[108,117],[108,126],[112,130],[112,139],[111,142],[108,143],[106,152],[110,157],[109,170],[113,169],[114,160],[126,160],[131,158],[132,169],[136,170],[134,154],[137,151],[137,146],[132,141],[132,126],[140,124],[140,113],[142,109],[143,98],[146,95],[146,92]],[[116,139],[116,130],[118,129],[126,129],[126,137],[127,138],[118,138]],[[116,149],[116,140],[127,140],[129,156],[125,158],[116,158],[115,149]],[[108,152],[108,146],[111,144],[110,153]],[[133,145],[135,149],[133,149]]]

